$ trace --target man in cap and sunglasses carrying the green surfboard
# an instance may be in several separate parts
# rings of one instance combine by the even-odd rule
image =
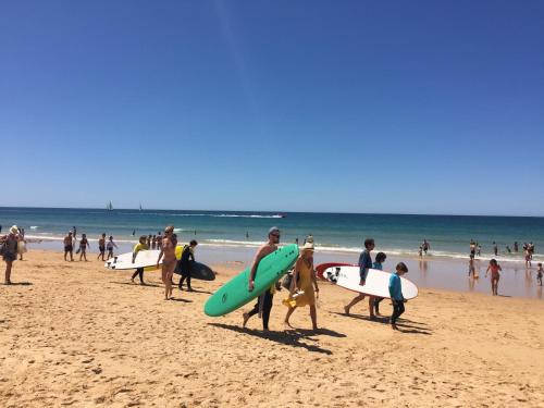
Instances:
[[[259,267],[259,262],[267,255],[270,255],[273,251],[275,251],[277,249],[277,244],[280,244],[280,230],[276,226],[273,226],[269,230],[269,242],[263,244],[259,248],[251,263],[251,271],[249,273],[249,281],[247,285],[247,289],[249,292],[254,290],[255,277],[257,273],[257,268]],[[261,296],[257,298],[257,304],[254,306],[254,308],[249,312],[243,314],[244,327],[246,326],[247,321],[251,316],[259,313],[259,317],[262,316],[262,329],[264,331],[269,330],[270,311],[272,310],[272,300],[274,298],[274,293],[275,293],[275,286],[271,286]]]

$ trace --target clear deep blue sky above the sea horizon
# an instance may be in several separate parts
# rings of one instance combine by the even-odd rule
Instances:
[[[4,1],[0,206],[544,215],[544,1]]]

